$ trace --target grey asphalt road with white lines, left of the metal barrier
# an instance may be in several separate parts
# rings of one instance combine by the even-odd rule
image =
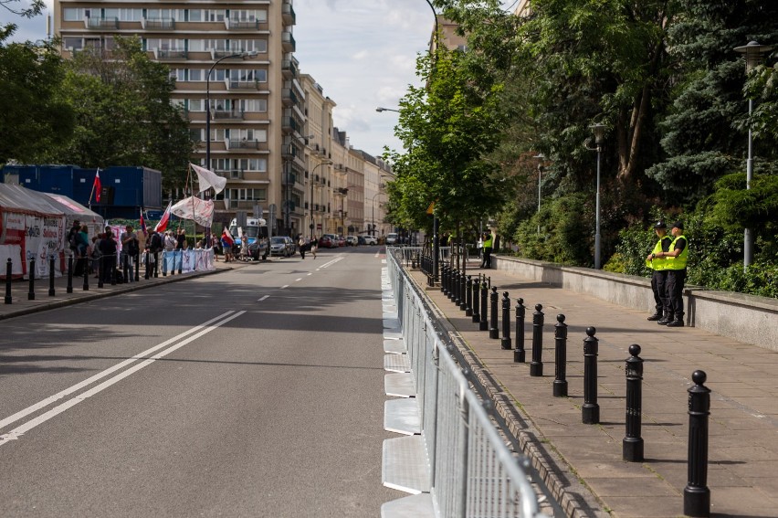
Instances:
[[[0,515],[377,516],[376,250],[2,322]]]

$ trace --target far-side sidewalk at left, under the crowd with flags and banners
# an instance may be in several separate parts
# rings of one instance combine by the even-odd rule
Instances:
[[[11,303],[5,303],[5,279],[0,280],[0,295],[2,295],[2,301],[0,301],[0,321],[12,318],[24,314],[42,312],[58,307],[68,306],[71,304],[78,304],[84,301],[93,301],[102,297],[110,297],[118,293],[126,293],[128,291],[144,290],[158,286],[166,282],[176,282],[179,280],[193,279],[195,277],[202,277],[204,275],[211,275],[219,273],[224,270],[233,270],[236,268],[243,268],[247,262],[231,261],[226,263],[222,260],[216,261],[214,265],[216,270],[211,271],[192,271],[189,273],[183,273],[163,277],[162,272],[159,273],[159,277],[144,279],[145,270],[141,265],[140,280],[137,282],[130,282],[125,284],[111,285],[109,282],[103,283],[102,288],[98,288],[98,280],[94,275],[89,276],[89,290],[84,291],[84,279],[82,277],[73,278],[73,292],[68,293],[68,277],[63,275],[62,277],[54,279],[54,296],[49,296],[49,280],[36,279],[35,280],[35,300],[28,300],[29,295],[29,280],[12,280],[11,281]]]

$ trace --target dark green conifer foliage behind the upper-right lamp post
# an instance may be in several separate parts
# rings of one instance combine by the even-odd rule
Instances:
[[[745,64],[733,48],[752,39],[778,41],[778,3],[678,0],[676,8],[668,33],[683,73],[677,77],[673,107],[660,125],[668,157],[647,173],[665,187],[668,203],[689,206],[708,196],[722,175],[744,168]],[[758,80],[753,86],[758,88]],[[760,146],[763,159],[778,157],[774,143]],[[764,167],[774,166],[757,164]]]

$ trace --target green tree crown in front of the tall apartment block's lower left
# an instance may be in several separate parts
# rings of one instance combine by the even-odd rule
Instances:
[[[169,69],[153,62],[137,38],[116,38],[72,60],[65,95],[78,126],[52,160],[84,167],[144,165],[163,173],[163,187],[183,186],[195,150],[182,111],[171,104]]]

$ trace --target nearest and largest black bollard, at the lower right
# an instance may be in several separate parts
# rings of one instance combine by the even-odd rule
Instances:
[[[710,516],[708,489],[708,417],[710,388],[703,386],[708,375],[694,371],[689,392],[689,483],[683,489],[683,513]]]

